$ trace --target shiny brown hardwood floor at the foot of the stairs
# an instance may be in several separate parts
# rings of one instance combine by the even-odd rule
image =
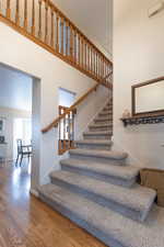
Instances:
[[[30,194],[30,173],[0,167],[0,247],[105,247]]]

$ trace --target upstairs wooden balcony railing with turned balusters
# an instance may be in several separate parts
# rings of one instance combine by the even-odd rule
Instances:
[[[97,82],[113,69],[113,63],[50,0],[3,0],[0,21]]]

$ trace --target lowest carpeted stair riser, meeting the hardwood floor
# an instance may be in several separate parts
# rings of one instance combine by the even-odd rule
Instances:
[[[49,206],[51,206],[54,210],[58,211],[63,216],[68,217],[69,220],[78,224],[80,227],[86,229],[93,236],[101,239],[108,247],[127,247],[127,246],[120,245],[117,240],[114,239],[113,236],[109,236],[109,234],[106,234],[102,232],[101,229],[98,229],[97,226],[92,225],[89,221],[83,220],[74,212],[68,210],[67,205],[61,203],[59,204],[58,202],[45,197],[42,193],[39,193],[39,199],[46,204],[48,204]]]

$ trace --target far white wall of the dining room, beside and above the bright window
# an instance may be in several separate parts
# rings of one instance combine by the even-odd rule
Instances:
[[[4,119],[4,131],[0,132],[0,135],[4,135],[5,142],[8,143],[7,158],[13,159],[13,121],[14,119],[30,119],[31,112],[2,108],[0,106],[0,117]]]

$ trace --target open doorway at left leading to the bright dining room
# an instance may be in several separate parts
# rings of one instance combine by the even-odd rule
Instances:
[[[24,178],[34,190],[39,181],[40,79],[0,64],[0,169],[13,172],[13,186],[15,178]],[[21,167],[15,166],[17,139],[33,149]]]

